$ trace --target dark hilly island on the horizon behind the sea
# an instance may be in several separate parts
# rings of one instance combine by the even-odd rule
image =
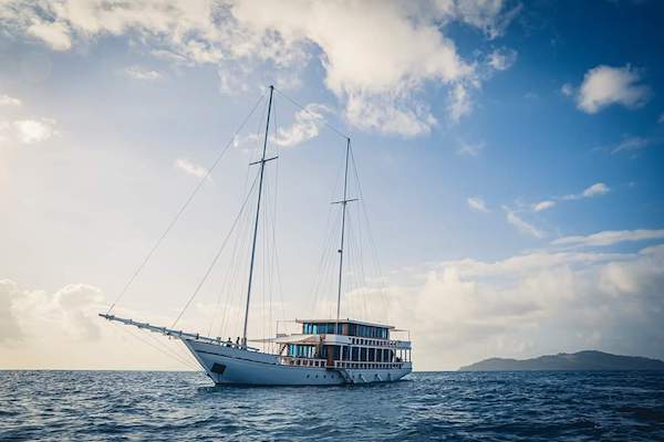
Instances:
[[[522,360],[490,358],[459,368],[459,371],[536,370],[664,370],[664,361],[585,350],[573,354],[559,352]]]

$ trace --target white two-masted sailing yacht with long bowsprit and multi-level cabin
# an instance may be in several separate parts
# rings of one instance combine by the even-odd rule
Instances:
[[[260,166],[258,176],[258,197],[251,261],[247,284],[247,301],[241,340],[212,338],[198,333],[160,327],[136,322],[111,314],[112,307],[100,316],[115,323],[154,332],[177,338],[191,352],[207,376],[217,385],[249,386],[325,386],[344,383],[391,382],[402,379],[412,371],[411,341],[393,338],[397,330],[385,324],[375,324],[351,318],[341,318],[341,292],[343,278],[343,257],[346,230],[346,204],[355,201],[347,196],[349,155],[351,140],[346,138],[345,172],[343,199],[341,204],[341,239],[339,252],[339,278],[336,291],[336,317],[329,319],[295,319],[301,327],[294,334],[277,334],[276,337],[261,339],[273,344],[273,352],[261,351],[249,346],[247,325],[250,312],[253,270],[256,261],[261,194],[270,113],[274,87],[269,87],[269,103],[266,120],[262,155],[256,164]],[[148,255],[149,256],[149,255]]]

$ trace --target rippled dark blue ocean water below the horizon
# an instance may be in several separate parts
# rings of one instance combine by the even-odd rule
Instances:
[[[664,372],[416,372],[212,387],[198,372],[0,371],[0,441],[664,441]]]

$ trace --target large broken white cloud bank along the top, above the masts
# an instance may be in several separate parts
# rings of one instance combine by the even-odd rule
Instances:
[[[272,72],[292,85],[310,60],[319,60],[324,83],[345,106],[354,126],[385,134],[426,134],[437,123],[425,90],[449,90],[449,118],[473,109],[469,88],[480,75],[446,36],[457,21],[500,35],[519,12],[500,0],[404,3],[251,1],[77,2],[29,4],[10,0],[0,20],[12,33],[42,39],[55,50],[104,35],[137,35],[148,52],[178,64],[217,64],[220,91],[231,92],[241,75],[231,64]],[[491,54],[506,69],[509,50]],[[148,75],[153,77],[154,75]],[[262,78],[261,78],[262,80]],[[486,78],[484,78],[486,80]],[[283,81],[281,82],[283,83]]]

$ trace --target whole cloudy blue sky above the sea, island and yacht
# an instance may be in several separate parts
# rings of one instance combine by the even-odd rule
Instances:
[[[663,20],[627,0],[0,0],[0,368],[190,367],[96,313],[193,192],[114,312],[170,325],[195,294],[178,327],[241,334],[269,84],[250,337],[333,314],[339,130],[361,197],[342,316],[408,329],[416,369],[664,358]]]

